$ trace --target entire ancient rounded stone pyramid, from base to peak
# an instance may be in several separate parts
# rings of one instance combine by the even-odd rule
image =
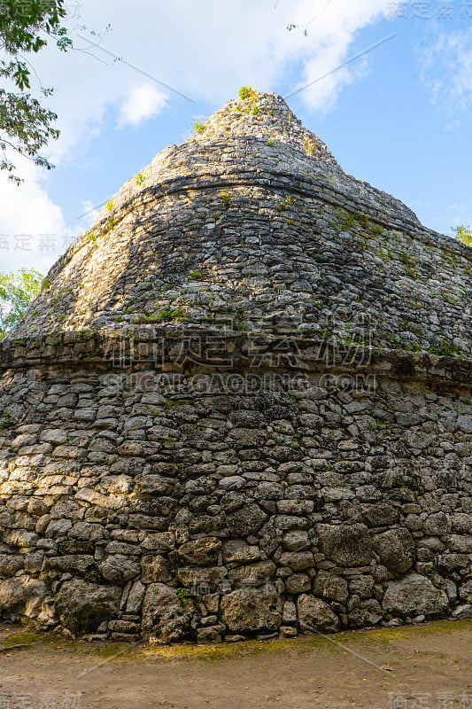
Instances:
[[[0,617],[213,642],[467,614],[471,253],[280,97],[161,152],[0,349]]]

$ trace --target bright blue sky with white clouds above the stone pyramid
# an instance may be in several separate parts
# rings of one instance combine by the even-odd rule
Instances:
[[[76,49],[34,58],[55,87],[62,134],[48,154],[57,167],[17,160],[19,188],[0,175],[0,270],[45,273],[94,207],[244,84],[287,96],[314,82],[288,103],[346,172],[402,199],[431,229],[451,235],[472,223],[472,2],[66,4]]]

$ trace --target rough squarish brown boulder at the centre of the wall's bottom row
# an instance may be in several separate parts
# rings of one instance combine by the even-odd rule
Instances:
[[[230,633],[276,630],[282,620],[280,601],[273,589],[237,588],[221,598],[221,619]]]

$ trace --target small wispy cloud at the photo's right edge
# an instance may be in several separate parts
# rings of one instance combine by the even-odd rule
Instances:
[[[472,105],[472,28],[441,33],[437,41],[422,50],[422,81],[429,87],[431,101],[450,113]],[[448,128],[458,128],[457,119]]]

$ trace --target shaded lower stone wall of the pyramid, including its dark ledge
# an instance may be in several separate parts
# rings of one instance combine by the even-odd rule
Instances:
[[[1,349],[2,619],[211,642],[470,600],[469,363],[201,338]]]

